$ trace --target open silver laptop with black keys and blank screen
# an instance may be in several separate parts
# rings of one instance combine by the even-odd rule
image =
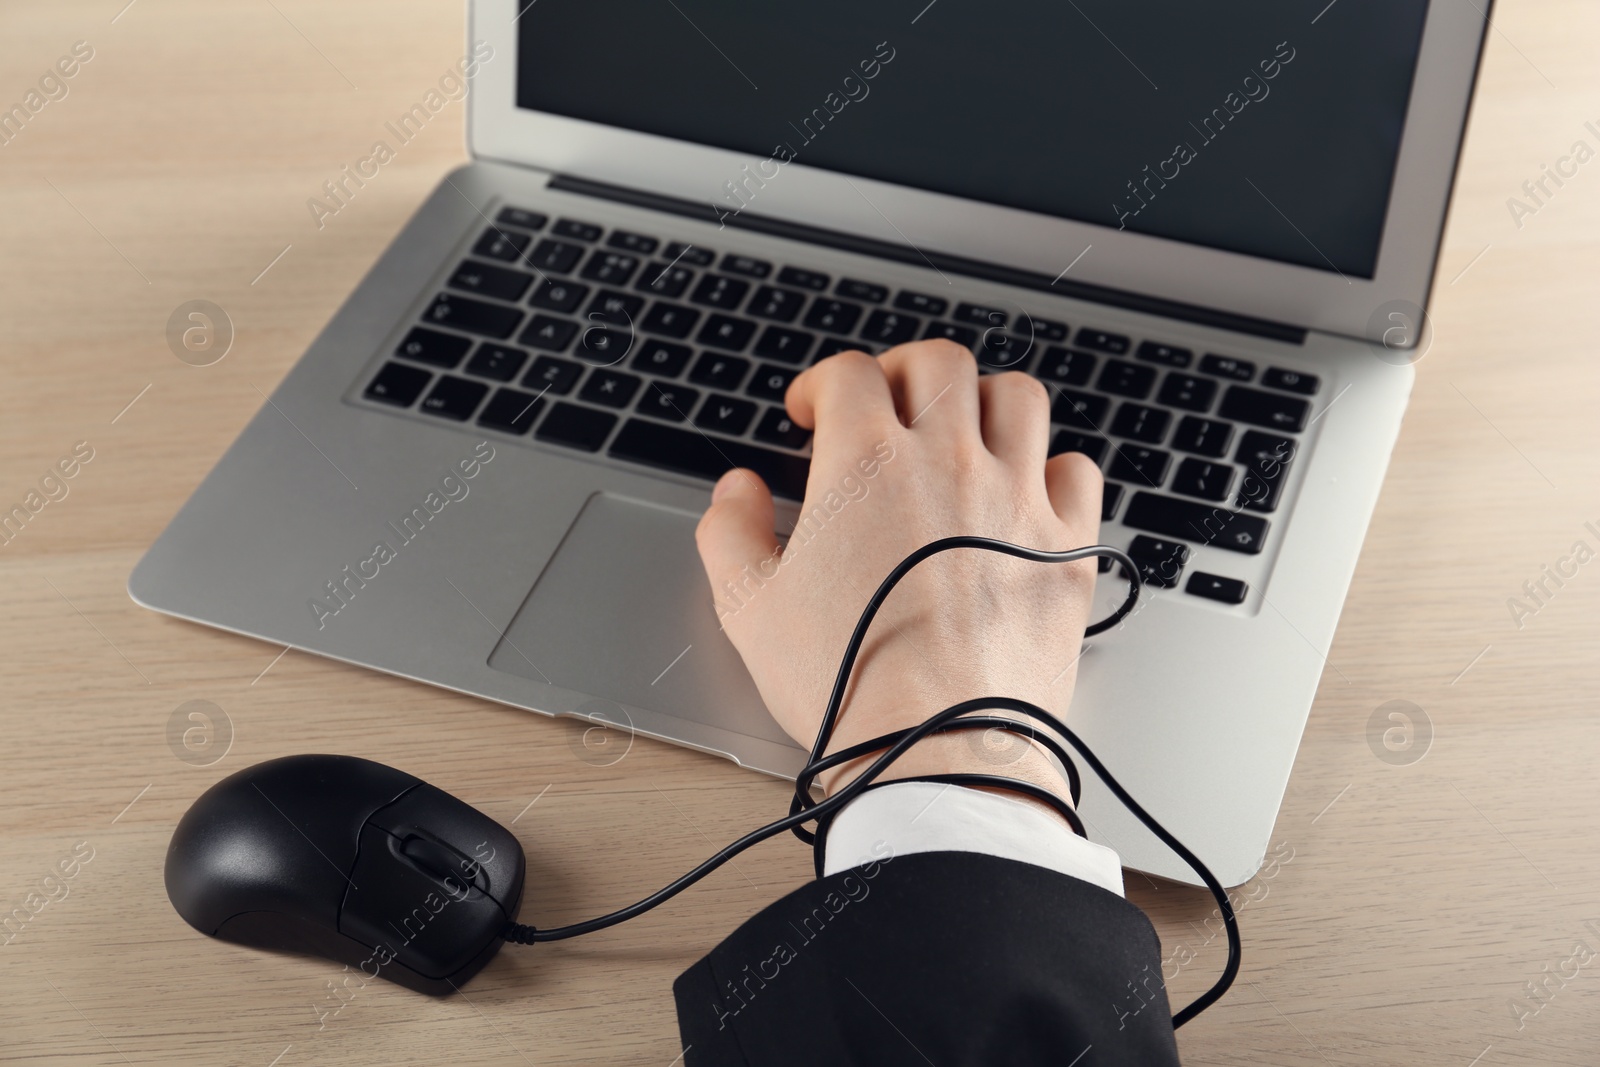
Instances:
[[[694,525],[742,466],[790,534],[794,376],[950,338],[1101,464],[1101,541],[1147,585],[1061,649],[1072,721],[1238,885],[1424,352],[1483,30],[1426,0],[475,0],[472,162],[130,593],[573,717],[574,760],[645,736],[794,776]],[[1125,592],[1102,574],[1096,613]],[[1194,880],[1091,776],[1082,811]]]

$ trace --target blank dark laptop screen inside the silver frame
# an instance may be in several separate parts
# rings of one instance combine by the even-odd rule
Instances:
[[[517,106],[1371,278],[1426,10],[536,0]]]

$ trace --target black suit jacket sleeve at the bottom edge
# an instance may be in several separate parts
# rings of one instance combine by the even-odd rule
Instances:
[[[808,883],[678,976],[674,993],[686,1067],[1178,1064],[1144,912],[979,853],[918,853]]]

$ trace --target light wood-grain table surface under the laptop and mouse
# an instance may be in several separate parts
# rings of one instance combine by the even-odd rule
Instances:
[[[125,2],[0,6],[0,104],[75,42],[94,50],[0,147],[0,504],[93,448],[70,493],[0,547],[0,897],[37,907],[0,944],[0,1061],[667,1067],[672,977],[808,877],[792,840],[618,931],[507,949],[448,1000],[336,993],[336,966],[210,941],[166,902],[187,805],[291,752],[365,753],[512,824],[542,923],[656,888],[786,790],[648,741],[597,766],[571,723],[278,657],[128,600],[144,547],[464,158],[451,104],[325,229],[304,206],[464,32],[454,0]],[[1326,649],[1278,864],[1242,889],[1243,973],[1181,1032],[1189,1064],[1600,1057],[1600,561],[1520,627],[1507,606],[1574,542],[1600,549],[1600,162],[1522,226],[1506,203],[1574,141],[1600,149],[1584,126],[1600,126],[1600,10],[1494,14],[1432,349]],[[165,339],[197,298],[237,326],[206,368]],[[230,723],[210,766],[168,744],[186,701]],[[1426,717],[1419,761],[1374,753],[1368,723],[1389,701]],[[1136,875],[1130,893],[1181,971],[1174,1000],[1208,984],[1210,902]]]

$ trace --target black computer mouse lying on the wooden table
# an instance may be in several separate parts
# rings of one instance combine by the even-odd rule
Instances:
[[[200,933],[424,993],[448,993],[490,961],[523,873],[510,830],[349,755],[291,755],[224,777],[166,848],[166,896]]]

